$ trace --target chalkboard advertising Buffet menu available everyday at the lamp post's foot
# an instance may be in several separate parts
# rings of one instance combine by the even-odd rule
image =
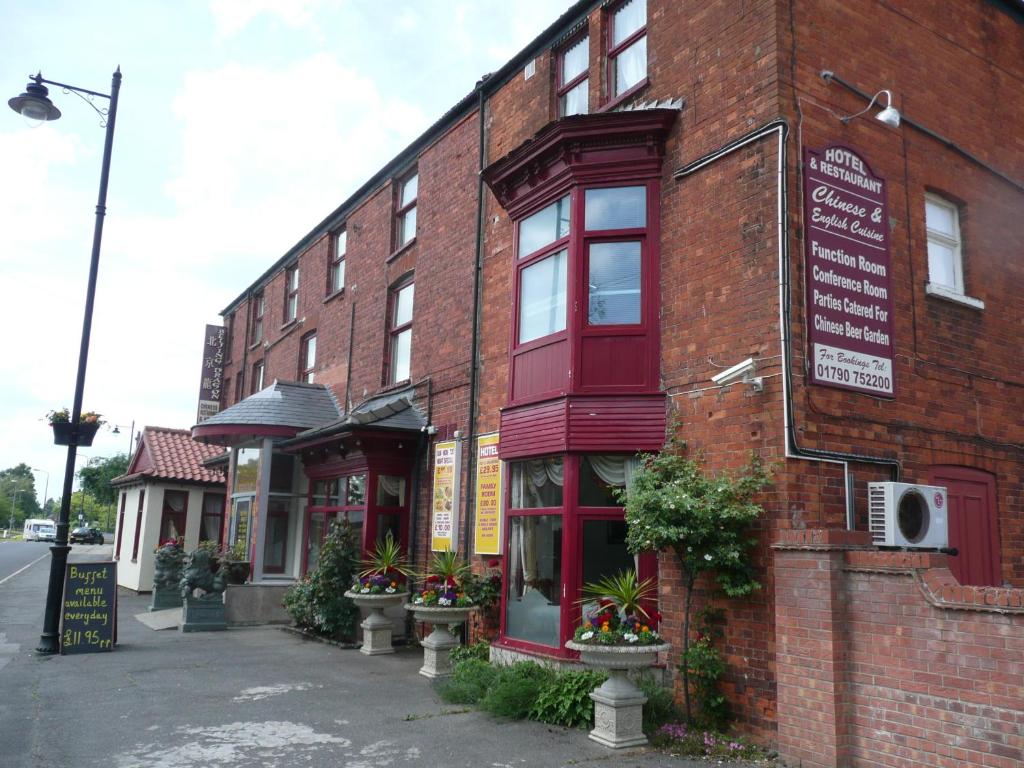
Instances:
[[[116,562],[68,563],[60,652],[99,653],[118,641]]]

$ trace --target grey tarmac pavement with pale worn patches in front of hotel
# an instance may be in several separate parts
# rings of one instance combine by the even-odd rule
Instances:
[[[134,617],[147,597],[124,591],[114,652],[40,656],[48,571],[0,585],[4,768],[709,765],[444,705],[418,647],[365,656],[276,628],[155,632]]]

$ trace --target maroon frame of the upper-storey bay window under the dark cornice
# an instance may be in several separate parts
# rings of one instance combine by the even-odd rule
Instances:
[[[623,229],[587,229],[586,228],[586,194],[588,189],[620,188],[628,186],[642,186],[646,188],[646,220],[642,227],[630,227]],[[561,199],[566,194],[569,195],[569,231],[568,234],[556,240],[534,253],[525,254],[518,258],[519,253],[519,229],[522,221],[529,216],[541,211],[555,201]],[[659,249],[658,249],[658,216],[659,216],[659,196],[660,183],[656,179],[649,177],[623,177],[613,181],[602,183],[579,183],[569,186],[562,186],[555,194],[545,196],[536,205],[531,206],[521,216],[515,220],[513,232],[513,259],[512,266],[512,301],[513,311],[511,314],[511,340],[509,345],[509,365],[511,371],[517,370],[516,357],[532,352],[541,347],[567,341],[569,364],[572,372],[581,372],[583,369],[583,342],[586,338],[612,338],[612,337],[643,337],[643,342],[647,347],[648,366],[651,372],[647,378],[656,378],[656,367],[658,365],[658,286],[657,275],[659,270]],[[628,325],[590,325],[588,322],[588,285],[590,266],[590,246],[597,243],[615,242],[639,242],[640,243],[640,323]],[[565,318],[565,330],[556,331],[548,336],[542,336],[526,342],[519,342],[519,318],[522,304],[522,270],[532,264],[543,261],[545,258],[557,253],[561,249],[566,249],[566,282],[565,305],[567,316]],[[574,377],[574,378],[573,378]],[[519,406],[525,402],[534,402],[547,397],[564,394],[566,391],[587,392],[600,391],[607,393],[628,394],[638,391],[650,391],[651,385],[643,384],[636,386],[600,386],[590,388],[579,383],[580,377],[573,374],[564,389],[532,394],[528,397],[515,396],[515,377],[508,379],[508,403]]]

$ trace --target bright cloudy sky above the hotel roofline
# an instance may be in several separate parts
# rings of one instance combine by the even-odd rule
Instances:
[[[191,426],[204,325],[569,0],[0,0],[0,91],[124,75],[84,409]],[[71,408],[103,130],[0,113],[0,469],[49,472]],[[97,100],[105,105],[104,99]],[[40,503],[46,475],[36,475]]]

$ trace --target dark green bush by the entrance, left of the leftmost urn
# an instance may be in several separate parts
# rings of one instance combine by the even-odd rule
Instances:
[[[284,606],[296,626],[334,640],[351,640],[359,609],[344,596],[355,577],[358,543],[345,520],[331,526],[316,567],[285,594]]]

